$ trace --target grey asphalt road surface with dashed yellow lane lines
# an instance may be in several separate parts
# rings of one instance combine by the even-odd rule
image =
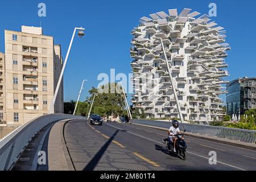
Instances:
[[[64,138],[76,170],[256,170],[256,152],[186,137],[187,160],[171,156],[162,144],[167,132],[129,123],[88,125],[68,122]],[[209,164],[216,151],[217,164]]]

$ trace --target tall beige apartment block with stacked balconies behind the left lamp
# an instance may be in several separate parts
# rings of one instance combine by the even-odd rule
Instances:
[[[48,114],[61,68],[61,48],[41,27],[5,30],[6,125]],[[54,111],[63,113],[63,83]]]

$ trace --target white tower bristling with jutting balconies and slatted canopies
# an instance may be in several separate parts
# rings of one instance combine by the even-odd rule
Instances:
[[[174,98],[177,93],[181,113],[187,121],[211,122],[221,119],[221,94],[229,76],[225,67],[225,30],[191,9],[177,9],[143,16],[131,32],[133,106],[147,118],[178,118]],[[160,41],[162,38],[171,68],[172,88]]]

